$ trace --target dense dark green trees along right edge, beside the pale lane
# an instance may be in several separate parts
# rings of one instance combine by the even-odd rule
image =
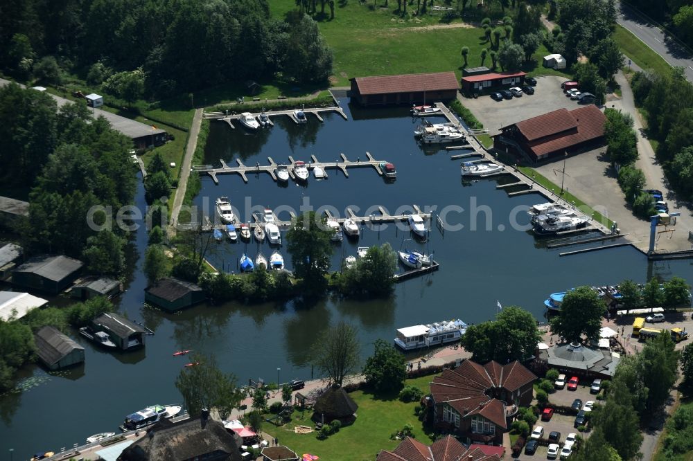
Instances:
[[[693,85],[682,68],[665,74],[636,73],[635,104],[645,109],[648,136],[660,141],[656,152],[669,182],[693,198]]]

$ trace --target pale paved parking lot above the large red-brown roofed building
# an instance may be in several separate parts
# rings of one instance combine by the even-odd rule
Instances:
[[[489,129],[489,134],[498,134],[500,127],[546,114],[556,109],[576,109],[577,101],[563,94],[561,83],[565,77],[545,76],[536,79],[534,94],[525,94],[520,98],[495,101],[491,96],[480,96],[477,99],[462,98],[462,104],[472,111],[474,116]]]

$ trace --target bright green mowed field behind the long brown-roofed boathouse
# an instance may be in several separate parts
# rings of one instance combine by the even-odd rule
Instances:
[[[389,8],[371,8],[372,3],[352,1],[343,7],[335,6],[335,19],[331,21],[318,17],[320,32],[335,55],[333,86],[348,86],[353,77],[398,73],[455,71],[459,78],[464,64],[462,46],[469,47],[469,67],[482,65],[482,48],[493,49],[481,28],[463,24],[459,19],[444,24],[437,15],[402,19],[395,12],[396,1],[389,3]],[[274,17],[283,17],[295,8],[294,3],[286,0],[270,0]],[[523,70],[533,75],[564,75],[537,66],[545,54],[547,51],[541,46],[535,62],[528,63]],[[491,66],[490,56],[483,65]]]

